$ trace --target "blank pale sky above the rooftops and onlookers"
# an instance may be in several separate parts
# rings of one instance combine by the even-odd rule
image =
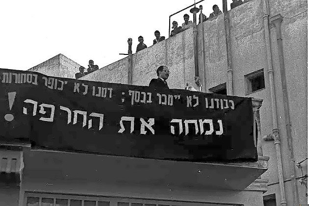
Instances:
[[[198,2],[197,0],[196,2]],[[230,3],[228,0],[228,10]],[[88,60],[102,68],[126,57],[128,38],[135,53],[138,36],[150,47],[154,31],[168,38],[169,16],[194,0],[3,0],[0,6],[0,68],[27,70],[62,53],[86,67]],[[212,5],[222,11],[222,0],[204,0],[208,17]],[[171,17],[181,26],[183,14]],[[197,19],[198,21],[198,19]],[[172,29],[171,29],[172,30]]]

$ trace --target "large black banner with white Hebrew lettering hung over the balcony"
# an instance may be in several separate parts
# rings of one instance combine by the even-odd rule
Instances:
[[[250,98],[0,69],[0,140],[190,161],[257,161]]]

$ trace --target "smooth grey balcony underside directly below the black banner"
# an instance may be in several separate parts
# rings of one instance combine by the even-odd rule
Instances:
[[[223,164],[30,150],[23,173],[42,180],[244,190],[267,170],[268,159]]]

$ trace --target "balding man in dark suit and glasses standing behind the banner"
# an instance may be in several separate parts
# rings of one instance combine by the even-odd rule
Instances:
[[[156,75],[158,78],[153,78],[149,83],[149,87],[154,90],[169,89],[166,79],[170,75],[170,71],[167,66],[159,66],[156,69]]]

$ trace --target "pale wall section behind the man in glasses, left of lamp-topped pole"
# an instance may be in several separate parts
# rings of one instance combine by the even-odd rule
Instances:
[[[132,84],[148,85],[157,78],[156,69],[167,65],[168,85],[182,89],[194,83],[194,51],[192,28],[132,55]],[[114,62],[80,79],[113,83],[128,83],[128,57]]]

